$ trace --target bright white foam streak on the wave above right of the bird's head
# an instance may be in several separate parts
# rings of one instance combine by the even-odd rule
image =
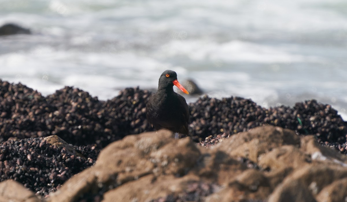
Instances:
[[[230,41],[226,43],[206,41],[170,41],[164,46],[168,56],[188,56],[193,60],[222,60],[228,62],[252,63],[288,63],[311,61],[318,62],[314,56],[291,54],[283,47],[273,47],[243,41]]]

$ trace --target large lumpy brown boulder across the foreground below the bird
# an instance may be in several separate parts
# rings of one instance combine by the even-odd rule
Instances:
[[[109,144],[45,200],[332,202],[346,179],[347,157],[313,135],[261,126],[206,148],[160,130]]]

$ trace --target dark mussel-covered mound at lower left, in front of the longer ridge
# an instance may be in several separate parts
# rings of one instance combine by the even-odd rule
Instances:
[[[45,196],[93,165],[99,151],[90,146],[53,146],[41,137],[7,140],[1,144],[0,152],[1,181],[14,179]]]

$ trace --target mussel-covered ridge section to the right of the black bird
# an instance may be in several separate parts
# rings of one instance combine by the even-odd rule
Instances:
[[[260,125],[274,125],[298,134],[314,134],[319,142],[346,142],[347,123],[331,105],[316,100],[296,103],[294,107],[282,105],[266,109],[250,99],[230,97],[219,100],[204,96],[189,106],[192,135],[200,140],[209,135],[228,136]]]

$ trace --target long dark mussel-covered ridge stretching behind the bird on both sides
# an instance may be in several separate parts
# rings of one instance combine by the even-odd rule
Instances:
[[[46,97],[20,83],[0,81],[0,87],[2,140],[58,135],[68,143],[94,144],[100,149],[125,135],[154,130],[145,116],[151,95],[147,90],[126,88],[115,98],[100,101],[72,87]],[[274,125],[298,134],[314,134],[321,144],[347,153],[347,122],[331,105],[316,100],[266,109],[250,99],[203,96],[189,108],[193,140],[204,141],[206,146],[256,126]]]

